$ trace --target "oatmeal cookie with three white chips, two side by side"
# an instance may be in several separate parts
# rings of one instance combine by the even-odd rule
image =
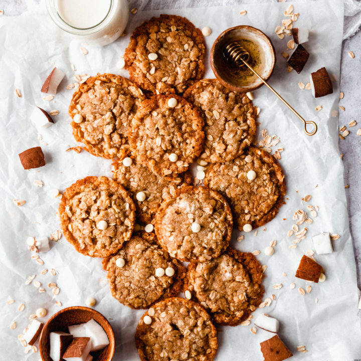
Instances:
[[[131,308],[147,308],[183,288],[185,267],[156,243],[154,233],[138,233],[103,260],[111,294]]]

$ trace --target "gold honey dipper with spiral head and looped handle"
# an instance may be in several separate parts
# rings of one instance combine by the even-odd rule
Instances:
[[[244,49],[239,42],[235,41],[227,45],[223,50],[223,55],[226,57],[228,61],[231,61],[235,65],[238,65],[239,67],[246,66],[248,69],[252,71],[254,75],[257,76],[259,80],[262,81],[264,85],[268,89],[272,91],[273,94],[275,94],[278,99],[280,99],[283,104],[285,104],[289,110],[292,111],[293,114],[295,114],[299,119],[303,122],[303,131],[307,135],[314,135],[317,131],[317,124],[312,120],[304,120],[247,62],[250,60],[250,54],[249,52]],[[307,130],[307,124],[312,124],[314,127],[314,130],[312,132],[309,132]]]

